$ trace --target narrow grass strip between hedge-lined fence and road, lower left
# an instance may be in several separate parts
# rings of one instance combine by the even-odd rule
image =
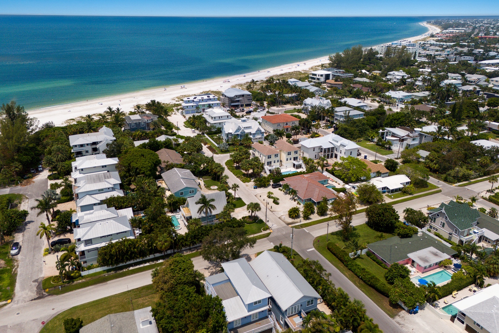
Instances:
[[[194,257],[198,257],[198,256],[200,256],[199,251],[196,251],[196,252],[193,252],[193,253],[186,255],[186,257],[191,258],[191,259]],[[160,263],[142,266],[142,267],[130,269],[127,271],[121,271],[121,272],[117,272],[117,273],[112,273],[112,270],[96,272],[93,274],[86,275],[82,278],[73,280],[73,282],[70,283],[69,285],[61,287],[61,290],[59,290],[59,289],[49,290],[47,292],[47,294],[50,294],[50,295],[65,294],[65,293],[71,292],[73,290],[86,288],[89,286],[97,285],[99,283],[108,282],[108,281],[111,281],[114,279],[123,278],[123,277],[129,276],[129,275],[132,275],[132,274],[137,274],[137,273],[153,270],[156,267],[160,267],[162,265],[163,265],[163,262],[160,262]],[[119,267],[119,268],[117,268],[117,270],[118,269],[123,269],[123,267]],[[111,273],[111,274],[108,274],[108,273]],[[61,285],[61,284],[54,285],[51,283],[51,280],[52,280],[52,277],[45,278],[41,283],[42,288],[47,289],[47,288],[57,287],[57,286]],[[82,280],[84,280],[84,281],[82,281]],[[82,282],[76,283],[77,281],[82,281]]]

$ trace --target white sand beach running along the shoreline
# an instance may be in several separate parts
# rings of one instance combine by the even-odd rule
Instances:
[[[438,27],[426,22],[422,22],[420,24],[426,26],[428,28],[428,31],[419,36],[405,38],[406,40],[408,39],[415,41],[423,39],[425,37],[428,37],[432,33],[440,31]],[[119,107],[125,112],[130,112],[133,111],[133,107],[135,105],[145,104],[151,99],[156,99],[157,101],[163,103],[171,103],[175,102],[175,99],[178,96],[196,95],[203,91],[209,90],[224,91],[234,84],[249,82],[252,79],[255,81],[262,80],[272,75],[291,71],[306,70],[310,67],[321,65],[327,62],[328,56],[323,56],[316,59],[294,62],[260,71],[215,78],[212,80],[129,92],[121,95],[102,97],[76,103],[49,106],[40,109],[29,110],[28,113],[30,116],[38,118],[40,124],[48,121],[53,121],[55,125],[62,125],[68,119],[85,116],[87,114],[102,113],[108,106],[111,106],[113,108]],[[224,82],[226,80],[229,80],[230,82]]]

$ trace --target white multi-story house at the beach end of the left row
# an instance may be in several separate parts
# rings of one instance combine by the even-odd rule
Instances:
[[[69,144],[74,157],[102,154],[107,145],[116,140],[110,128],[103,126],[98,132],[69,136]]]

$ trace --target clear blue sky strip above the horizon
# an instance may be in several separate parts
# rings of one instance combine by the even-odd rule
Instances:
[[[0,14],[131,16],[499,15],[498,0],[0,0]]]

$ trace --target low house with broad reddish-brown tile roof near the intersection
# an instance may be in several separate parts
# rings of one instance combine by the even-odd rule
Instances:
[[[298,175],[284,178],[282,184],[288,184],[290,188],[296,190],[298,201],[301,204],[311,201],[317,205],[326,197],[327,201],[336,199],[336,195],[326,187],[328,177],[321,174],[319,171],[308,173],[306,175]]]

